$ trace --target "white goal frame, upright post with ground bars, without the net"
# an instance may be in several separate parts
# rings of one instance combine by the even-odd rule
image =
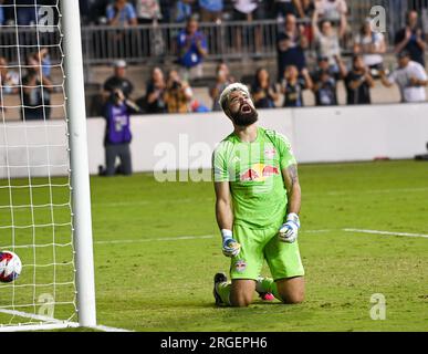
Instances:
[[[86,326],[100,330],[95,308],[91,190],[87,157],[86,112],[83,79],[80,9],[77,0],[61,1],[61,28],[65,67],[65,101],[69,124],[71,200],[75,251],[77,322],[6,310],[3,313],[31,319],[31,324],[0,325],[0,332],[55,330]]]

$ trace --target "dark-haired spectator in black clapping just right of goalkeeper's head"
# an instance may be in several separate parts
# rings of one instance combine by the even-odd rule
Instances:
[[[276,87],[271,83],[269,72],[259,67],[255,72],[254,82],[251,85],[251,95],[255,108],[274,108],[280,97]]]

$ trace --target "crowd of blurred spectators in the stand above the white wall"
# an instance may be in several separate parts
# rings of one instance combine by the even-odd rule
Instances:
[[[10,1],[0,0],[0,4]],[[39,3],[56,4],[56,1]],[[17,13],[11,7],[0,7],[0,24],[17,18],[19,24],[35,21],[33,0],[17,0]],[[384,65],[387,51],[383,33],[373,31],[370,20],[361,23],[358,33],[352,35],[352,53],[345,59],[341,40],[347,35],[347,3],[345,0],[86,0],[81,1],[82,19],[90,24],[137,25],[164,22],[184,22],[177,33],[177,60],[170,67],[156,66],[152,70],[145,87],[145,95],[134,97],[139,113],[186,113],[218,111],[221,91],[241,77],[233,77],[226,62],[220,62],[216,77],[207,87],[212,105],[203,105],[194,93],[191,83],[203,77],[203,64],[211,40],[199,29],[202,22],[252,21],[278,19],[276,77],[267,67],[259,67],[251,82],[246,82],[259,108],[304,106],[303,92],[311,91],[316,105],[337,104],[337,83],[343,81],[347,104],[369,104],[370,90],[379,79],[383,85],[397,85],[401,102],[426,101],[425,86],[428,84],[425,71],[426,38],[417,11],[409,11],[406,27],[394,37],[397,69],[388,72]],[[299,21],[306,19],[307,21]],[[236,33],[241,38],[240,33]],[[255,50],[261,41],[254,29]],[[239,43],[239,41],[237,41]],[[258,44],[259,43],[259,44]],[[315,48],[316,63],[309,65],[307,49]],[[238,44],[239,46],[239,44]],[[261,48],[261,46],[260,46]],[[128,102],[134,85],[126,77],[126,62],[114,63],[114,74],[104,86],[100,112],[111,102],[117,90]],[[38,69],[39,67],[39,69]],[[20,94],[22,117],[49,118],[50,96],[55,92],[51,82],[50,55],[46,48],[27,59],[22,72],[11,69],[0,58],[0,84],[2,96]],[[113,97],[113,98],[112,98]],[[135,107],[134,107],[135,108]]]

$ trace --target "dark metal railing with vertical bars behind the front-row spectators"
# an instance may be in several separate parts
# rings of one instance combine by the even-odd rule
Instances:
[[[310,27],[310,20],[300,20]],[[82,29],[83,58],[87,65],[109,64],[117,59],[128,63],[145,64],[159,60],[175,61],[177,59],[177,34],[185,28],[182,23],[161,23],[157,27],[142,24],[136,27],[88,25]],[[220,24],[199,24],[199,30],[207,38],[207,60],[240,60],[242,58],[267,59],[276,55],[278,33],[284,24],[276,20],[260,21],[227,21]],[[0,32],[1,43],[9,45],[4,53],[11,63],[18,62],[15,45],[34,41],[32,28],[6,28]],[[58,41],[58,32],[44,33],[40,39],[41,46],[49,46]],[[314,42],[311,42],[307,52],[314,52]],[[344,51],[352,49],[352,41],[342,42]],[[21,55],[31,53],[31,46],[21,51]],[[61,53],[51,53],[53,60],[60,60]],[[21,62],[25,58],[20,59]]]

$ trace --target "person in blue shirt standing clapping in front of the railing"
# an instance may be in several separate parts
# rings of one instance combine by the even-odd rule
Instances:
[[[185,80],[202,76],[202,61],[207,53],[207,40],[198,31],[198,21],[191,18],[187,21],[186,29],[178,33],[178,63]]]

